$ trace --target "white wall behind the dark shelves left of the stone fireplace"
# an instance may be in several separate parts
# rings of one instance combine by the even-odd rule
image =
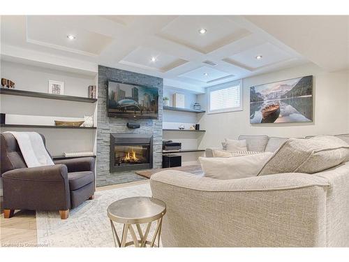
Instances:
[[[64,94],[70,96],[87,97],[87,87],[95,85],[95,77],[91,75],[9,61],[1,61],[1,78],[13,80],[16,89],[43,93],[48,92],[49,80],[62,81],[65,84]],[[23,117],[10,117],[10,115],[24,115],[27,119],[29,119],[27,116],[34,116],[34,119],[30,118],[32,124],[48,124],[47,121],[49,121],[53,125],[54,119],[68,120],[70,117],[82,119],[84,115],[94,115],[96,110],[96,103],[78,103],[3,94],[1,94],[0,101],[1,112],[8,114],[7,124],[28,124],[21,120]],[[1,131],[32,131],[32,129],[6,127],[1,128]],[[94,150],[96,130],[93,129],[36,129],[35,131],[43,133],[47,140],[47,149],[52,155]]]

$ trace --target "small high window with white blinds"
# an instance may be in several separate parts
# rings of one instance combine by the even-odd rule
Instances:
[[[241,81],[209,87],[209,112],[230,112],[242,110]]]

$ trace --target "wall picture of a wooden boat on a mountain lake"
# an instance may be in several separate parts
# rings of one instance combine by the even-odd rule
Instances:
[[[250,87],[250,123],[313,121],[313,75]]]

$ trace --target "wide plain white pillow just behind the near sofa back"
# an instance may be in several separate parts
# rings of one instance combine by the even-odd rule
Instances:
[[[265,152],[244,157],[199,157],[199,160],[205,177],[231,180],[257,176],[272,155]]]

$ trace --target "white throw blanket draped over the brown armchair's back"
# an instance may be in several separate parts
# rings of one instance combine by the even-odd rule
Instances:
[[[47,153],[43,138],[36,132],[8,132],[16,138],[25,163],[29,168],[54,165]]]

